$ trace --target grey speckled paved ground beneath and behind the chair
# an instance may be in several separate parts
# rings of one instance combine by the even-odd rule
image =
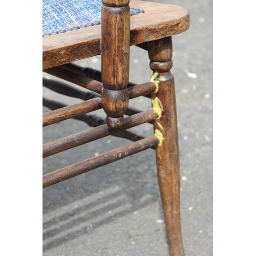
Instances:
[[[173,37],[182,233],[187,256],[212,255],[212,1],[152,2],[180,5],[191,15],[190,29]],[[99,56],[78,62],[100,69]],[[132,47],[130,80],[148,81],[148,63],[147,52]],[[47,89],[44,94],[79,102]],[[146,98],[131,101],[137,108],[142,102],[151,108]],[[45,127],[44,143],[88,128],[76,120]],[[142,129],[152,134],[149,124]],[[128,143],[106,137],[79,146],[44,159],[44,173]],[[168,255],[153,150],[44,189],[43,209],[43,255]]]

